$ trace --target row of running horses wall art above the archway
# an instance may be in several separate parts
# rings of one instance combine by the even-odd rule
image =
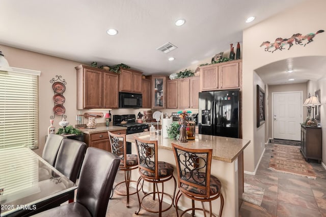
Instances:
[[[304,47],[313,42],[313,38],[319,34],[323,33],[324,30],[320,29],[316,33],[308,33],[307,35],[302,35],[301,33],[293,34],[290,38],[277,38],[274,42],[265,41],[260,47],[265,47],[265,51],[274,52],[276,50],[283,50],[286,46],[288,46],[288,50],[294,45],[303,45]],[[304,43],[306,42],[306,43]]]

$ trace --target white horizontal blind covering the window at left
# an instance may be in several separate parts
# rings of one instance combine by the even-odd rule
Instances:
[[[0,149],[38,144],[38,76],[13,68],[0,71]]]

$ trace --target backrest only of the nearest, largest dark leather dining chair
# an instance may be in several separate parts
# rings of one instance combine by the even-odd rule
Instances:
[[[92,216],[105,217],[120,159],[113,153],[90,147],[80,171],[76,202]]]

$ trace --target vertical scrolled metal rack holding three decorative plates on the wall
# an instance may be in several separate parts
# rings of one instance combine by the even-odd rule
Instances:
[[[66,91],[66,80],[61,79],[61,75],[56,75],[56,78],[52,78],[50,80],[50,83],[52,84],[52,89],[54,92],[53,96],[53,115],[50,116],[50,119],[55,119],[56,115],[59,116],[64,116],[64,118],[67,118],[67,115],[65,115],[66,108],[63,106],[65,103],[66,99],[63,96],[63,93]]]

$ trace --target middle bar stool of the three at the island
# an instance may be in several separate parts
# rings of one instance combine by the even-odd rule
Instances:
[[[162,216],[162,212],[169,210],[174,205],[174,197],[176,191],[176,179],[173,176],[174,168],[171,164],[167,162],[158,161],[157,158],[157,140],[154,141],[147,141],[140,139],[134,136],[136,149],[138,151],[138,162],[139,162],[139,174],[140,177],[137,182],[137,189],[138,185],[140,184],[141,180],[153,183],[153,192],[147,193],[144,195],[142,200],[140,199],[139,192],[137,192],[138,202],[139,202],[139,210],[135,212],[138,214],[143,207],[146,211],[158,213],[158,216]],[[164,182],[173,179],[174,180],[174,191],[173,197],[164,192]],[[161,191],[158,190],[158,183],[161,183]],[[157,189],[157,190],[155,190]],[[158,211],[150,209],[143,204],[143,200],[150,195],[153,195],[153,200],[155,200],[155,195],[157,194],[158,197]],[[172,203],[162,210],[162,201],[163,196],[166,195],[171,198]]]

